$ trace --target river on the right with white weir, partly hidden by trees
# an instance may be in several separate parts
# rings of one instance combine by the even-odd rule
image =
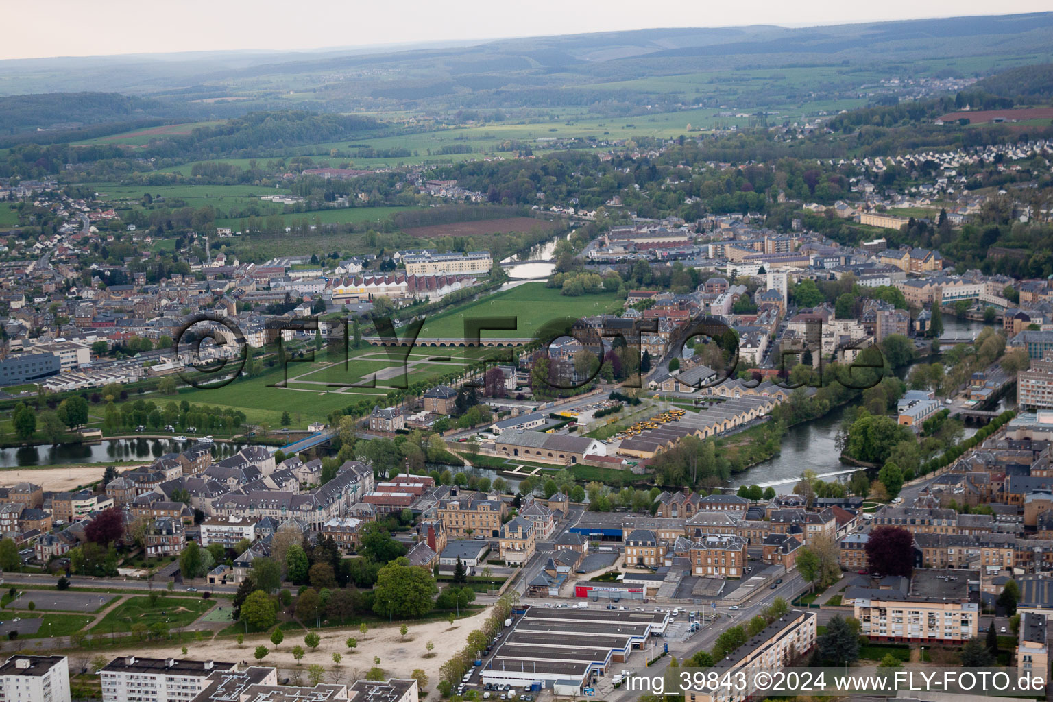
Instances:
[[[959,320],[950,315],[943,316],[943,334],[947,336],[976,335],[985,326],[985,323],[980,321]],[[932,363],[933,359],[923,359],[919,362]],[[901,377],[906,378],[913,365],[903,368]],[[1007,400],[999,403],[1001,408],[1010,405],[1012,402]],[[729,485],[732,487],[739,485],[768,487],[769,485],[795,483],[800,475],[809,468],[818,474],[820,478],[831,478],[855,472],[856,468],[841,463],[841,452],[837,447],[837,433],[848,406],[837,407],[826,417],[791,426],[787,429],[786,436],[782,437],[782,450],[778,456],[732,476]],[[966,427],[967,437],[975,433],[975,427]]]

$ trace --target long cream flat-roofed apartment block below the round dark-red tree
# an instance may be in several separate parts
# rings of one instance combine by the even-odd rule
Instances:
[[[921,569],[899,586],[850,586],[843,601],[852,603],[859,633],[870,639],[957,644],[976,636],[979,625],[970,580],[978,582],[979,574]]]

